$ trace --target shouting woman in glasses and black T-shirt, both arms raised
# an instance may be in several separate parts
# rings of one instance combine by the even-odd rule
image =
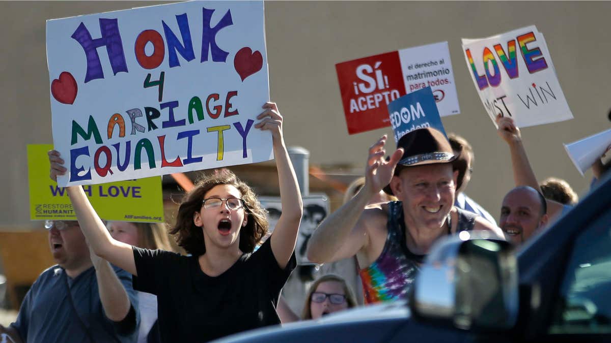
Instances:
[[[274,233],[254,253],[268,229],[252,189],[227,170],[197,182],[183,198],[171,229],[191,256],[147,250],[112,239],[82,187],[67,187],[76,217],[98,256],[134,275],[134,289],[157,295],[164,342],[202,342],[279,324],[280,290],[295,268],[295,241],[303,211],[295,171],[275,103],[263,105],[254,127],[270,131],[280,184],[282,215]],[[51,178],[64,161],[49,152]]]

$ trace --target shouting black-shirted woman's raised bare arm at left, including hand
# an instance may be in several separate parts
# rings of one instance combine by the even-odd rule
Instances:
[[[57,181],[57,176],[64,175],[66,172],[64,160],[55,150],[49,151],[48,155],[49,162],[51,162],[51,179]],[[136,263],[134,262],[131,245],[119,242],[111,237],[81,186],[66,187],[66,190],[82,233],[95,255],[117,265],[117,267],[132,275],[136,275]]]

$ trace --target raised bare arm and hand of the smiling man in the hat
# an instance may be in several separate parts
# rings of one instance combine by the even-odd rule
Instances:
[[[368,242],[367,226],[376,222],[379,208],[365,209],[371,198],[390,183],[403,150],[384,161],[386,135],[369,148],[365,184],[347,203],[325,218],[308,242],[307,258],[316,263],[328,263],[354,256]]]

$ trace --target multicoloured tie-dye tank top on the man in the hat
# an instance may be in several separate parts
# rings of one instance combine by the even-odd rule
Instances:
[[[369,267],[359,270],[366,304],[405,298],[423,257],[411,253],[405,245],[401,201],[390,201],[388,206],[388,234],[382,253]],[[456,231],[473,229],[475,217],[476,214],[458,209]]]

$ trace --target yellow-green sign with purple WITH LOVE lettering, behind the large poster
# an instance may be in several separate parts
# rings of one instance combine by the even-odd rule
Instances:
[[[76,220],[64,187],[49,178],[51,144],[27,145],[32,220]],[[65,159],[65,157],[64,157]],[[125,222],[163,222],[161,176],[82,186],[100,218]]]

